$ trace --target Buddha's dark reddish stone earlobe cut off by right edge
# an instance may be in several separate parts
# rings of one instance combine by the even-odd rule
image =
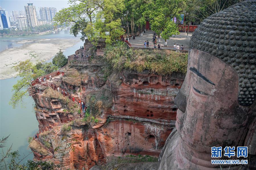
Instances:
[[[253,120],[249,125],[248,132],[245,138],[244,146],[248,147],[248,154],[256,155],[256,104],[253,104],[253,108],[249,111],[249,115],[253,116]]]

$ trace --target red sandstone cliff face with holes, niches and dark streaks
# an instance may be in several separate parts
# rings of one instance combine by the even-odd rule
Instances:
[[[61,92],[37,89],[36,118],[44,132],[34,141],[36,146],[30,146],[35,158],[61,164],[63,157],[65,169],[89,169],[112,155],[159,156],[175,127],[173,99],[184,76],[122,70],[106,77],[104,69],[101,62],[69,62],[62,81],[56,83],[86,106],[88,96],[102,100],[98,121],[83,121],[77,114],[79,104]]]

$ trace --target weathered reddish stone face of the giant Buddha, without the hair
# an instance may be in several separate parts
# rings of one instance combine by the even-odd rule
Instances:
[[[239,105],[238,75],[232,66],[204,51],[189,51],[184,83],[175,98],[176,128],[186,145],[200,152],[212,146],[242,146],[248,107]]]

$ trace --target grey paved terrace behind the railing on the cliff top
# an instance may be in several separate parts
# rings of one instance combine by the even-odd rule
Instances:
[[[145,41],[149,41],[149,45],[154,45],[153,44],[153,34],[154,32],[149,30],[146,31],[146,33],[143,33],[142,36],[138,36],[135,37],[135,39],[131,39],[130,43],[131,44],[140,44],[140,45],[144,45]],[[167,40],[167,46],[171,46],[173,47],[174,43],[179,44],[180,47],[181,45],[183,45],[184,47],[189,47],[189,40],[191,37],[192,33],[189,33],[189,37],[187,38],[187,33],[185,34],[184,32],[180,32],[180,35],[175,35],[175,37],[171,37],[170,39]],[[157,40],[157,44],[158,44],[158,40]],[[160,37],[160,45],[164,45],[164,39],[162,39]]]

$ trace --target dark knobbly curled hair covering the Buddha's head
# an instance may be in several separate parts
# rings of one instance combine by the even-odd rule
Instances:
[[[237,3],[212,14],[194,31],[189,49],[210,53],[239,76],[238,102],[249,106],[256,96],[256,1]]]

